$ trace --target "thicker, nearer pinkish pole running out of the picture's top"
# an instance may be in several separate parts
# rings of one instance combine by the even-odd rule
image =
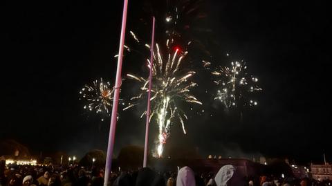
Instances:
[[[124,35],[126,32],[127,6],[128,6],[128,0],[124,0],[120,46],[119,46],[119,55],[118,55],[118,68],[116,70],[116,84],[113,88],[114,89],[114,99],[113,99],[113,107],[112,107],[111,126],[109,127],[109,143],[107,145],[107,158],[106,158],[106,165],[105,165],[104,186],[107,186],[107,184],[109,183],[109,174],[111,172],[112,155],[113,155],[113,147],[114,147],[114,137],[116,135],[116,113],[118,112],[119,93],[120,93],[120,86],[121,86],[121,68],[122,68]]]

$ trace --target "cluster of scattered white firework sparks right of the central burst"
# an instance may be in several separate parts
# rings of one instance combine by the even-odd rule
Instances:
[[[204,62],[203,62],[204,64]],[[258,78],[248,75],[247,66],[243,61],[231,62],[231,66],[219,66],[212,75],[216,77],[214,83],[219,86],[219,90],[214,100],[219,100],[225,109],[239,106],[256,106],[256,100],[249,99],[250,93],[261,91],[257,85]]]

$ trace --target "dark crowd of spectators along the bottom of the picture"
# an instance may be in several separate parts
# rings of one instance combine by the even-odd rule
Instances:
[[[195,174],[190,167],[176,172],[159,172],[150,168],[111,172],[110,186],[327,186],[329,181],[309,178],[275,178],[257,176],[234,181],[236,168],[225,165],[216,174]],[[0,186],[102,186],[104,169],[93,167],[12,166],[0,171]]]

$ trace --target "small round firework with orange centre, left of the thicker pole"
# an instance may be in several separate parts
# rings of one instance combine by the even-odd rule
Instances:
[[[104,82],[102,78],[100,78],[100,82],[98,80],[93,81],[92,86],[88,84],[84,85],[80,90],[80,100],[86,102],[83,108],[109,117],[113,103],[113,92],[114,89],[111,84]],[[104,121],[104,118],[101,120]]]

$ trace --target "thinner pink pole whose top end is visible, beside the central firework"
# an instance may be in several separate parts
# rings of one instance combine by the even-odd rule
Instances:
[[[147,122],[145,124],[145,145],[144,145],[144,160],[143,167],[147,167],[147,149],[149,143],[149,119],[150,119],[150,99],[151,99],[151,82],[152,82],[152,67],[154,66],[154,17],[152,17],[152,37],[150,46],[150,74],[149,74],[149,91],[147,92]]]

